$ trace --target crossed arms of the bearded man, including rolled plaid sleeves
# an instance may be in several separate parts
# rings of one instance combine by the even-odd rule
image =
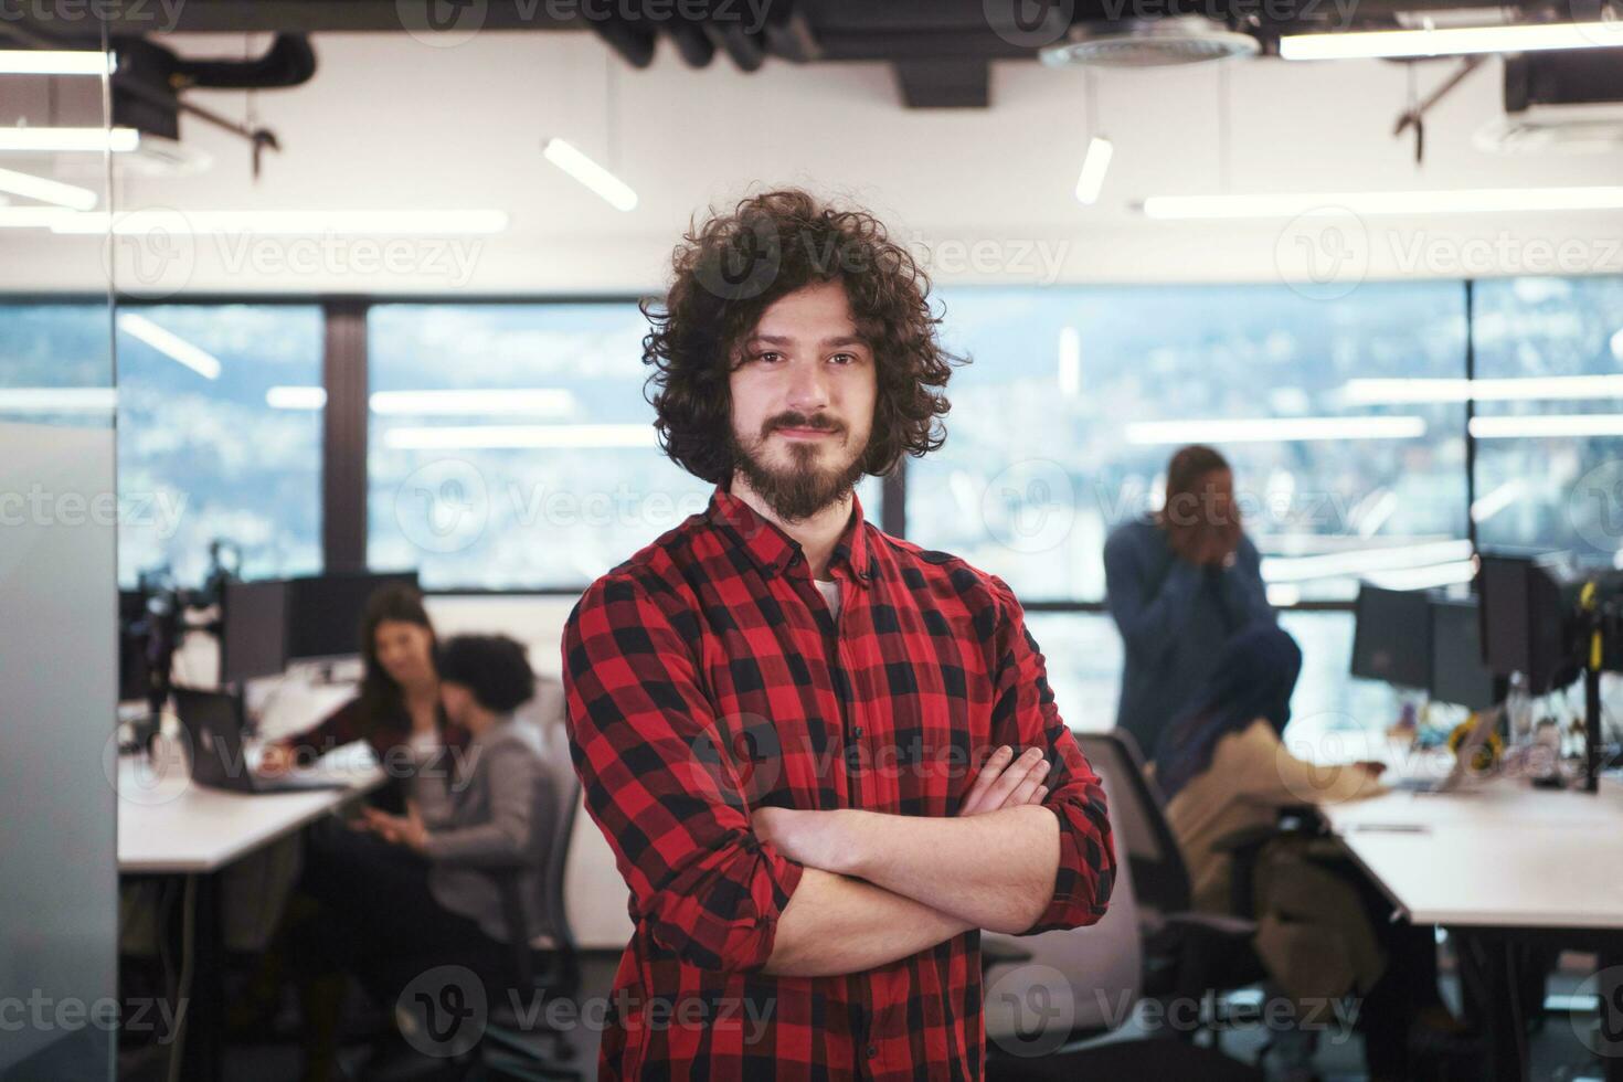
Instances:
[[[972,928],[1032,934],[1094,923],[1115,878],[1097,775],[1053,707],[1042,654],[995,581],[998,753],[951,818],[857,809],[751,813],[682,615],[609,577],[563,639],[570,749],[588,814],[635,913],[712,970],[854,973]],[[1047,782],[1047,785],[1044,785]]]

